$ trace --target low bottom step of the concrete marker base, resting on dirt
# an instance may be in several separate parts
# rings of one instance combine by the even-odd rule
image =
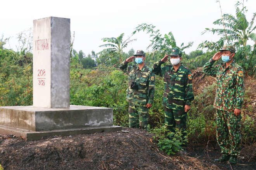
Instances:
[[[121,126],[102,126],[92,128],[81,128],[81,129],[64,129],[64,130],[53,130],[53,131],[29,131],[24,129],[12,128],[7,126],[0,126],[0,134],[10,134],[16,136],[22,136],[26,141],[35,141],[40,139],[50,138],[51,136],[70,136],[77,134],[92,134],[102,132],[115,132],[121,131]]]

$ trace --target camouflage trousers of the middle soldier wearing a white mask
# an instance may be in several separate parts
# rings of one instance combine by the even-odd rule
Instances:
[[[164,121],[165,127],[169,131],[175,133],[175,129],[178,128],[181,130],[183,141],[187,141],[187,131],[186,131],[186,120],[187,112],[184,110],[175,110],[164,108]],[[168,136],[167,136],[168,137]],[[184,141],[184,142],[185,142]],[[186,143],[186,142],[185,142]]]

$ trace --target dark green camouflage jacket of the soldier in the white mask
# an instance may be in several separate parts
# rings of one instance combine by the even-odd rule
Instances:
[[[176,72],[173,65],[161,68],[163,63],[159,60],[153,65],[153,73],[164,78],[163,106],[184,110],[185,105],[194,100],[191,71],[182,64]]]

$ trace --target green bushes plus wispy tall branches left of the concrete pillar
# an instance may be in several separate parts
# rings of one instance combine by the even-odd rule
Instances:
[[[17,52],[5,49],[9,41],[3,37],[0,48],[0,105],[32,105],[33,100],[33,64],[32,64],[32,31],[18,34]]]

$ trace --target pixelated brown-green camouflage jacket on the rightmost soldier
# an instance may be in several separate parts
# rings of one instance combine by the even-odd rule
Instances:
[[[244,69],[235,61],[227,68],[225,63],[213,66],[210,59],[203,68],[204,73],[217,78],[214,107],[218,110],[234,112],[241,109],[244,96]]]

